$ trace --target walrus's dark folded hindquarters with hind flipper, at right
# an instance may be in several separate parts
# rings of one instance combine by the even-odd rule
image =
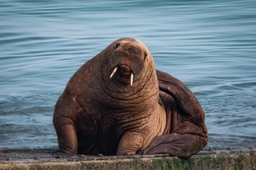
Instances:
[[[195,95],[181,81],[156,70],[167,117],[170,117],[170,134],[155,137],[146,149],[148,154],[169,153],[189,158],[207,144],[205,114]]]

